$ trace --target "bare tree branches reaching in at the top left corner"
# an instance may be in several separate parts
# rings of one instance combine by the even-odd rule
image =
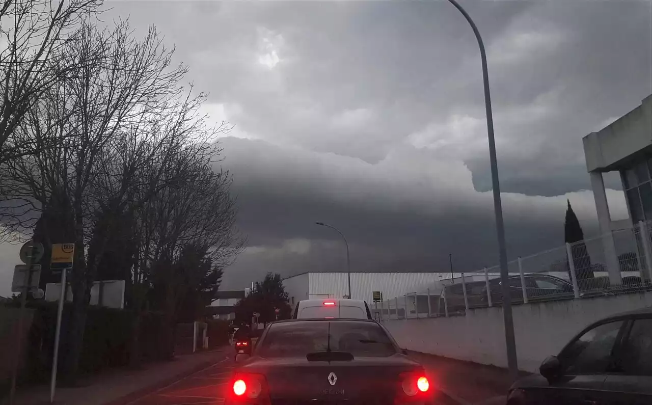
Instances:
[[[102,0],[4,0],[0,5],[0,162],[46,148],[14,138],[16,128],[42,93],[76,68],[60,51],[80,19],[93,16]]]

